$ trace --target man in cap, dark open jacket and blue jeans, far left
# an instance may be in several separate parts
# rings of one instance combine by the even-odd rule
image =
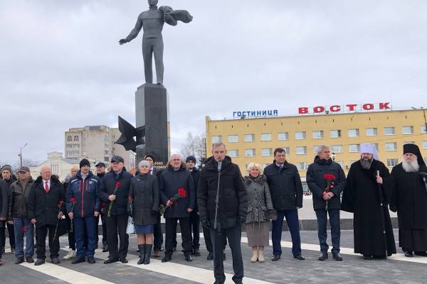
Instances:
[[[18,170],[18,180],[12,183],[9,191],[8,222],[13,222],[15,229],[16,264],[23,263],[23,261],[34,262],[34,225],[28,218],[28,197],[33,182],[30,169],[22,166]],[[25,254],[23,251],[24,236],[26,237]]]

